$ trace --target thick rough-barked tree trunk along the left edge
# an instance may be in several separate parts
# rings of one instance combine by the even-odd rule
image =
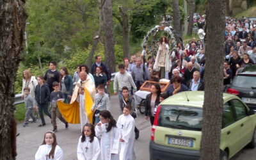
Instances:
[[[14,82],[26,26],[24,1],[0,1],[0,159],[15,159]]]

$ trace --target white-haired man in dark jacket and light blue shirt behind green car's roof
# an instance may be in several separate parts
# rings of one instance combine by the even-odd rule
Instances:
[[[200,79],[200,73],[197,70],[193,73],[193,79],[189,81],[188,88],[191,91],[204,90],[204,80]]]

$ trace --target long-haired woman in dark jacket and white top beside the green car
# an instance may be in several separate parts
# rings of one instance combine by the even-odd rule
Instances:
[[[161,95],[161,88],[158,83],[152,84],[151,93],[147,95],[145,100],[145,119],[148,120],[150,118],[150,123],[153,125],[154,123],[154,109],[160,103],[159,98]]]

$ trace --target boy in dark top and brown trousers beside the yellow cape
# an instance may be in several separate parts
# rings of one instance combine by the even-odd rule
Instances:
[[[66,129],[68,128],[68,122],[62,117],[58,106],[57,101],[64,101],[63,94],[60,91],[60,86],[58,82],[52,83],[53,91],[51,93],[51,116],[52,116],[52,125],[53,132],[57,132],[56,116],[65,124]]]

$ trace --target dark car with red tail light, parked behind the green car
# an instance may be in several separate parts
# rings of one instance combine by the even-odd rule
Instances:
[[[256,65],[244,67],[228,86],[227,93],[237,95],[256,111]]]

